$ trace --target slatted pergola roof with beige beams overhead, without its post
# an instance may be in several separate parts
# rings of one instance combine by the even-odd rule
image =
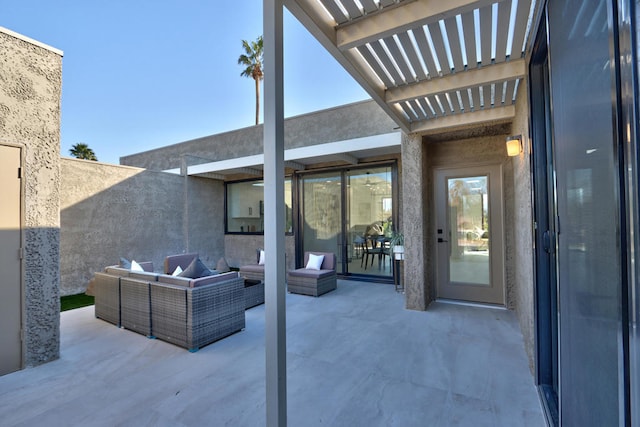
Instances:
[[[284,2],[404,132],[513,119],[535,2]]]

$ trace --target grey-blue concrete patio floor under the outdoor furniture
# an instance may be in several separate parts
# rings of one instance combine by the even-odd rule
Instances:
[[[544,426],[515,316],[339,281],[287,295],[290,426]],[[265,425],[264,305],[189,353],[61,314],[61,357],[0,377],[2,426]]]

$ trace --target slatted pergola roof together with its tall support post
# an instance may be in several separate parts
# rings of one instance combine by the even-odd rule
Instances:
[[[267,424],[286,425],[282,8],[406,134],[490,128],[515,117],[536,2],[264,0]]]

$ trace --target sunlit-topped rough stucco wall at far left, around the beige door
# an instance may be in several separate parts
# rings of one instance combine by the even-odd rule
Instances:
[[[60,355],[62,52],[0,28],[0,143],[23,148],[24,366]]]

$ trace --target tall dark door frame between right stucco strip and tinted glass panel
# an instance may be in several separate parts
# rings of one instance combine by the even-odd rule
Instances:
[[[546,11],[529,65],[531,182],[534,220],[533,279],[535,318],[535,379],[547,422],[560,423],[560,329],[557,277],[557,208],[551,123],[551,88]]]

